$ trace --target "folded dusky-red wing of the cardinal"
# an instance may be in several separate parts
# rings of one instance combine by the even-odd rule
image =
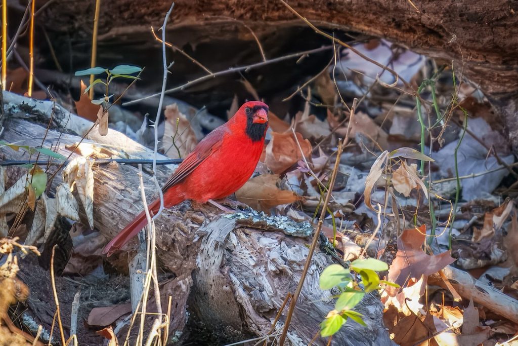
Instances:
[[[175,186],[180,183],[186,176],[191,174],[200,163],[209,158],[214,151],[218,150],[221,146],[221,141],[225,132],[226,129],[224,127],[219,127],[205,136],[205,138],[194,148],[192,153],[183,159],[177,170],[172,173],[162,187],[162,191],[165,192],[171,186]]]

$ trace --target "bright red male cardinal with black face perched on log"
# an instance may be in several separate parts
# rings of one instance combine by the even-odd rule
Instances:
[[[259,101],[243,104],[222,126],[210,132],[194,148],[162,187],[164,207],[184,200],[205,203],[225,198],[244,185],[263,152],[268,129],[268,106]],[[160,199],[149,205],[156,214]],[[113,238],[103,253],[110,256],[148,224],[145,212]]]

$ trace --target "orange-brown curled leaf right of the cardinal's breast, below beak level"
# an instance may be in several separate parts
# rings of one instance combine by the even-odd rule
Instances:
[[[305,157],[311,155],[311,144],[300,133],[296,133],[298,143]],[[298,160],[303,159],[293,132],[271,133],[270,143],[266,146],[266,166],[275,174],[281,174],[292,167]]]

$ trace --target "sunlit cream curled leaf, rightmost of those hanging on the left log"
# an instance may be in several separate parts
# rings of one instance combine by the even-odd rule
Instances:
[[[88,224],[91,229],[94,227],[94,173],[92,161],[78,156],[70,161],[63,170],[63,182],[68,183],[70,191],[77,188],[79,199],[83,205]]]

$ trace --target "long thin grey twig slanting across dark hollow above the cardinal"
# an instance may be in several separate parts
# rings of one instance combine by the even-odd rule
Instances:
[[[173,93],[173,92],[176,92],[176,91],[184,90],[185,88],[191,87],[193,85],[197,85],[197,84],[199,84],[199,83],[201,83],[203,81],[206,81],[208,79],[212,79],[212,78],[215,78],[215,77],[219,77],[219,76],[223,76],[223,75],[227,75],[227,74],[232,74],[232,73],[236,73],[236,72],[240,72],[240,71],[252,70],[253,68],[262,67],[262,66],[265,66],[265,65],[277,63],[277,62],[284,61],[284,60],[298,58],[300,56],[304,56],[304,55],[311,54],[311,53],[318,53],[318,52],[321,52],[321,51],[324,51],[324,50],[328,50],[330,48],[333,48],[333,46],[331,46],[331,45],[323,46],[323,47],[320,47],[320,48],[310,49],[310,50],[306,50],[306,51],[302,51],[302,52],[298,52],[298,53],[287,54],[286,56],[270,59],[270,60],[267,60],[266,62],[263,61],[263,62],[257,62],[255,64],[246,65],[246,66],[238,66],[238,67],[228,68],[227,70],[214,72],[214,73],[212,73],[210,75],[205,75],[205,76],[196,78],[196,79],[191,80],[189,82],[186,82],[185,84],[182,84],[182,85],[180,85],[178,87],[167,89],[165,91],[165,93],[166,94],[170,94],[170,93]],[[160,95],[161,95],[161,93],[151,94],[151,95],[145,96],[143,98],[139,98],[139,99],[135,99],[135,100],[132,100],[132,101],[124,102],[122,105],[123,106],[132,105],[132,104],[139,103],[141,101],[144,101],[144,100],[147,100],[147,99],[151,99],[151,98],[154,98],[154,97],[160,96]]]

